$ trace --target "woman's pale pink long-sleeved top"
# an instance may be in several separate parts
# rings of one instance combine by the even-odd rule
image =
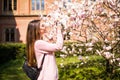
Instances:
[[[34,45],[38,67],[41,65],[43,54],[47,54],[44,59],[43,67],[38,80],[58,80],[58,68],[54,52],[63,47],[63,36],[61,31],[57,34],[56,43],[49,43],[37,40]]]

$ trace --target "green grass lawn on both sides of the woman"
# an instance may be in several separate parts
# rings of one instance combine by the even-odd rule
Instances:
[[[87,58],[83,57],[83,60],[79,60],[78,56],[57,58],[59,80],[91,80],[89,79],[91,75],[93,80],[103,80],[99,77],[99,74],[104,71],[104,67],[101,65],[102,61],[101,57],[94,55]],[[29,80],[22,71],[22,64],[23,59],[11,60],[8,63],[0,64],[0,80]]]

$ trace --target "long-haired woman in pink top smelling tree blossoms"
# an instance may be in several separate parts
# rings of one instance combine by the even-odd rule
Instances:
[[[63,47],[62,26],[56,27],[57,39],[52,43],[43,21],[33,20],[28,24],[27,30],[27,59],[30,66],[41,66],[43,55],[45,59],[37,80],[58,80],[58,68],[54,52]]]

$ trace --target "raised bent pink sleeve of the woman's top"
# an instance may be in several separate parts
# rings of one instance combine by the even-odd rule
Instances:
[[[38,40],[36,41],[35,45],[37,49],[46,52],[54,52],[57,50],[61,50],[63,47],[63,36],[61,33],[58,33],[56,43],[49,43],[43,40]]]

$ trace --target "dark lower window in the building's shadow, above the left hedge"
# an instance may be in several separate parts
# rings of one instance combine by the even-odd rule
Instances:
[[[5,41],[14,42],[15,41],[15,28],[6,28],[5,29]]]

